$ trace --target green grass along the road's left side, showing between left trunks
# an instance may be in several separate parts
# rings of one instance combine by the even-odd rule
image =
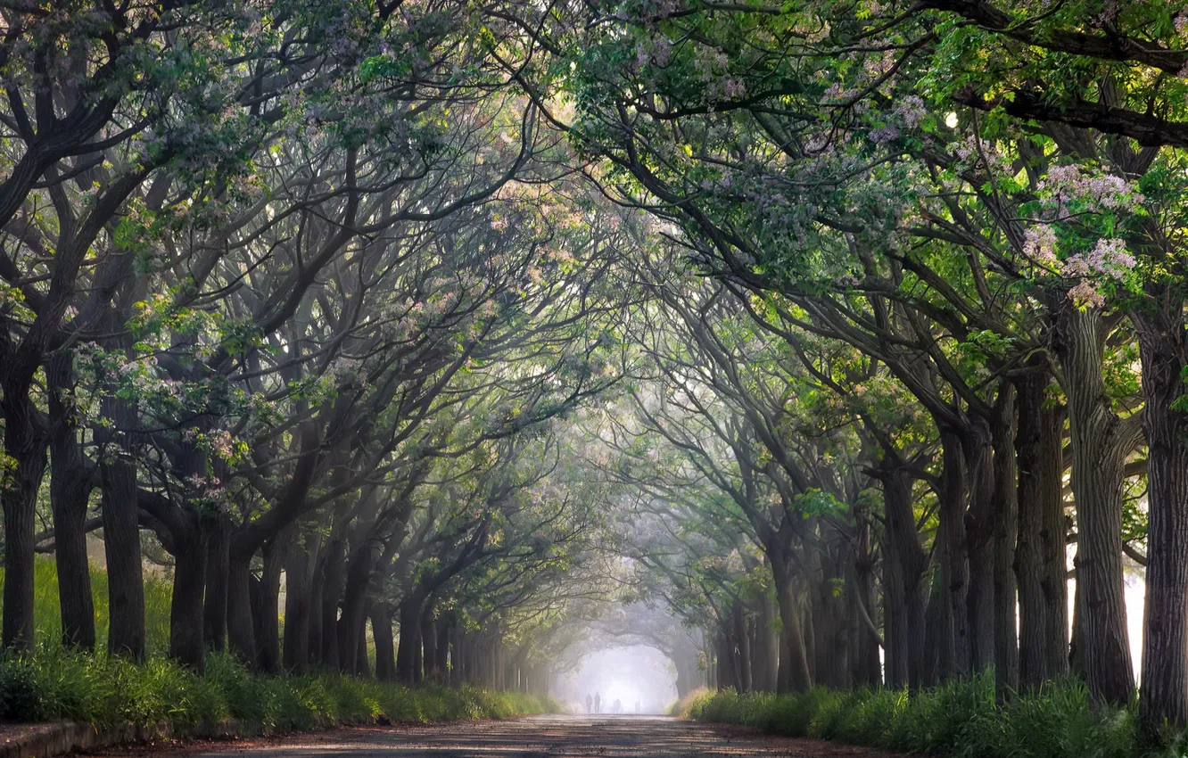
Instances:
[[[170,585],[145,585],[150,659],[144,665],[59,644],[58,582],[53,561],[37,561],[33,655],[0,655],[0,721],[68,719],[96,725],[158,724],[175,727],[242,719],[268,727],[311,728],[328,721],[398,722],[501,719],[557,713],[549,697],[462,687],[419,687],[318,671],[263,676],[229,655],[211,655],[197,676],[164,657],[169,644]],[[0,571],[0,587],[4,574]],[[106,646],[107,575],[91,570],[99,650]]]

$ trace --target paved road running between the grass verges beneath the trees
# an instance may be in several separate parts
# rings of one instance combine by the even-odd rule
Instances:
[[[108,753],[112,756],[114,753]],[[361,727],[309,737],[181,750],[145,747],[124,756],[187,758],[887,758],[815,740],[661,716],[533,716],[435,727]]]

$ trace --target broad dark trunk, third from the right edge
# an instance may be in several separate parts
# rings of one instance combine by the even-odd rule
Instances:
[[[1048,381],[1048,373],[1040,365],[1016,383],[1019,681],[1031,688],[1068,676],[1068,582],[1061,498],[1063,415],[1061,409],[1047,406]]]

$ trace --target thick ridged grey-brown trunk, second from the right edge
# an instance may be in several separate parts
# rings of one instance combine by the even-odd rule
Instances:
[[[1133,447],[1130,422],[1110,408],[1101,371],[1105,335],[1095,309],[1066,304],[1057,353],[1064,369],[1076,497],[1076,592],[1082,623],[1085,680],[1093,697],[1125,705],[1135,687],[1126,632],[1121,564],[1123,463]]]

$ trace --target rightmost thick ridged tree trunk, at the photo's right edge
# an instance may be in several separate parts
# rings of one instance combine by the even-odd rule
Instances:
[[[1163,290],[1163,288],[1159,288]],[[1135,316],[1143,361],[1148,446],[1146,605],[1143,625],[1144,729],[1188,726],[1188,341],[1183,302],[1161,292],[1161,311]]]

